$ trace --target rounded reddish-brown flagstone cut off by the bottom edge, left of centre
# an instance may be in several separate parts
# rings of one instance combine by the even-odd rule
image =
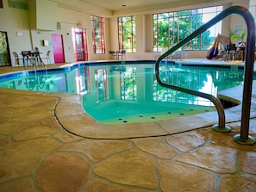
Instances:
[[[45,192],[78,191],[89,179],[90,167],[76,154],[53,153],[42,162],[35,182]]]

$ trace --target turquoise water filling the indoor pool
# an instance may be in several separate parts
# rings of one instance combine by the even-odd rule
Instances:
[[[174,84],[217,95],[243,83],[243,69],[222,65],[163,62],[160,77]],[[47,71],[0,76],[0,87],[82,95],[84,111],[102,123],[161,121],[215,110],[206,99],[159,86],[152,62],[78,64]]]

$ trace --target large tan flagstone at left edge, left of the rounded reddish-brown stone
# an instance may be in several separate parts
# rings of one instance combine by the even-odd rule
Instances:
[[[0,169],[5,172],[5,175],[0,177],[0,182],[33,174],[41,157],[59,146],[58,142],[48,138],[5,145],[0,151]]]

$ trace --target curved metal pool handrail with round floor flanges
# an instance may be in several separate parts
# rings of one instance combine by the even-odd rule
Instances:
[[[199,92],[196,90],[184,89],[172,84],[165,84],[161,81],[159,77],[159,64],[162,59],[169,56],[179,47],[184,46],[187,42],[197,37],[197,35],[202,34],[208,28],[215,25],[217,22],[222,21],[225,17],[231,14],[241,15],[245,22],[247,23],[247,52],[246,52],[246,64],[245,64],[245,79],[244,79],[244,88],[243,88],[243,101],[242,101],[242,111],[241,111],[241,127],[240,134],[234,135],[234,141],[243,144],[243,145],[253,145],[255,143],[255,139],[249,136],[249,122],[250,122],[250,109],[251,109],[251,98],[252,98],[252,87],[253,87],[253,63],[254,63],[254,49],[255,49],[255,23],[253,19],[253,15],[250,14],[248,9],[241,6],[234,6],[228,9],[225,9],[219,15],[216,15],[212,20],[204,24],[201,28],[198,28],[194,33],[190,34],[184,40],[181,40],[177,45],[172,46],[167,52],[163,53],[159,59],[156,61],[155,71],[156,78],[160,85],[170,88],[172,90],[178,90],[190,95],[201,96],[203,98],[209,99],[211,102],[215,104],[215,108],[217,109],[219,115],[219,124],[214,125],[213,129],[219,132],[229,132],[230,127],[225,125],[225,112],[222,107],[222,103],[215,97],[209,94],[205,94],[203,92]]]

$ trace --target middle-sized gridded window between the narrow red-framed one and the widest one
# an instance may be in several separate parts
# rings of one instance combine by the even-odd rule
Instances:
[[[135,16],[118,17],[119,50],[136,53]]]

